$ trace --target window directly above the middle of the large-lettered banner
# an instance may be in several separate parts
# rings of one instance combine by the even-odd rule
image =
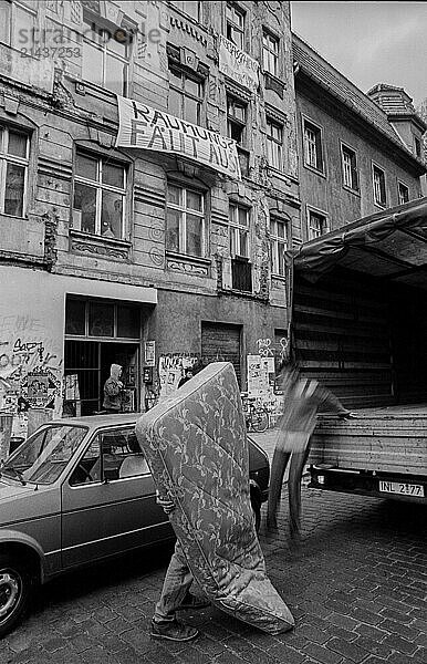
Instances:
[[[169,66],[168,110],[170,115],[199,125],[202,101],[204,84],[195,76],[190,76],[175,66]]]

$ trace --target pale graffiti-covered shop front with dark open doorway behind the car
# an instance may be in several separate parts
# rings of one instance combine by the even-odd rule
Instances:
[[[12,437],[29,415],[102,409],[111,364],[123,366],[125,411],[142,407],[140,346],[154,288],[0,267],[0,412]]]

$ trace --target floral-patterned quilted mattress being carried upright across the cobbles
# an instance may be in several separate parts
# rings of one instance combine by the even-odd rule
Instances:
[[[270,634],[292,614],[265,573],[232,365],[210,364],[137,422],[136,435],[194,578],[222,611]]]

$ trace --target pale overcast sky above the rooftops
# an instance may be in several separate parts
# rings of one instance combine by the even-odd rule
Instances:
[[[427,2],[291,2],[292,30],[363,92],[427,98]]]

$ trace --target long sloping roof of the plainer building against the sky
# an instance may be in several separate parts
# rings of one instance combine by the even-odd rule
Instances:
[[[298,62],[299,69],[304,74],[390,141],[407,158],[416,163],[418,168],[423,165],[423,162],[402,142],[398,134],[389,124],[387,114],[379,108],[378,104],[294,33],[292,33],[292,49],[293,59]]]

